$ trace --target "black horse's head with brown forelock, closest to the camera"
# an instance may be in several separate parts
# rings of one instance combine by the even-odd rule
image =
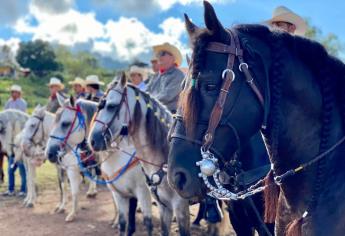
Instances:
[[[262,100],[266,100],[271,60],[267,44],[258,37],[249,37],[246,29],[251,26],[245,25],[231,30],[239,37],[244,61],[249,65],[254,81],[248,81],[248,77],[240,71],[241,62],[238,55],[208,50],[211,42],[229,47],[235,45],[231,38],[234,36],[221,25],[213,7],[208,2],[204,2],[204,7],[206,29],[198,28],[185,16],[186,28],[193,46],[191,79],[187,81],[180,97],[181,118],[177,118],[176,125],[171,130],[169,182],[185,198],[203,197],[206,193],[205,185],[198,176],[200,167],[196,162],[201,160],[201,144],[204,142],[211,112],[220,95],[224,77],[227,76],[226,73],[230,73],[225,72],[225,69],[233,71],[234,81],[226,96],[224,110],[209,149],[218,159],[220,169],[224,168],[234,153],[247,143],[263,124],[265,109],[249,82],[256,84],[264,98]],[[266,27],[256,27],[260,29],[260,33],[270,32]],[[228,60],[231,56],[234,57],[234,64],[229,68]]]

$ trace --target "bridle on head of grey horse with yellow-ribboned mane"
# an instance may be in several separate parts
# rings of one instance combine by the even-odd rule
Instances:
[[[117,105],[117,109],[116,111],[114,112],[113,116],[111,117],[111,119],[109,120],[109,122],[103,122],[99,119],[97,119],[97,116],[98,116],[98,112],[102,109],[104,109],[105,107],[105,98],[107,97],[109,91],[115,91],[117,93],[119,93],[121,95],[121,100],[120,100],[120,103]],[[119,90],[116,90],[114,88],[110,88],[107,93],[103,96],[103,98],[101,99],[100,101],[100,104],[98,106],[98,110],[97,112],[95,113],[94,115],[94,119],[92,121],[93,122],[98,122],[100,123],[102,126],[103,126],[103,136],[104,136],[104,139],[105,139],[105,143],[107,143],[107,140],[106,140],[106,136],[105,136],[105,133],[106,132],[109,132],[110,134],[110,142],[112,142],[114,140],[114,135],[113,135],[113,132],[111,131],[111,124],[113,123],[113,121],[119,117],[119,113],[120,113],[120,109],[122,107],[122,104],[125,104],[126,105],[126,120],[128,121],[127,124],[123,124],[122,126],[122,129],[120,131],[120,134],[122,135],[127,135],[127,134],[124,134],[125,133],[125,129],[128,129],[128,126],[131,125],[131,114],[130,114],[130,110],[129,110],[129,104],[128,104],[128,96],[127,96],[127,87],[124,88],[124,91],[121,92]],[[92,125],[91,125],[92,126]]]

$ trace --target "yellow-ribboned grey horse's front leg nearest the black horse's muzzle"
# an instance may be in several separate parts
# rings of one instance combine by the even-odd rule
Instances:
[[[179,233],[181,236],[188,236],[190,235],[190,215],[188,201],[180,200],[178,204],[174,205],[174,212],[176,215]]]

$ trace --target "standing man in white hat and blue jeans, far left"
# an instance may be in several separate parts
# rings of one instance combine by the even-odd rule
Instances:
[[[10,88],[11,97],[8,99],[7,103],[5,104],[6,109],[16,109],[22,112],[26,112],[27,103],[21,97],[22,96],[22,88],[19,85],[12,85]],[[15,192],[15,171],[19,168],[20,178],[22,180],[22,185],[20,188],[20,192],[18,196],[25,196],[26,194],[26,172],[23,161],[17,161],[14,163],[14,152],[8,153],[8,190],[3,193],[4,196],[14,196]]]

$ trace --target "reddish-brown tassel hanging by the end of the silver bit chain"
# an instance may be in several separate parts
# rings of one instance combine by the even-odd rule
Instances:
[[[279,198],[279,186],[274,183],[273,171],[268,172],[264,181],[265,186],[268,186],[264,190],[265,201],[265,223],[274,223],[277,214],[278,198]]]

